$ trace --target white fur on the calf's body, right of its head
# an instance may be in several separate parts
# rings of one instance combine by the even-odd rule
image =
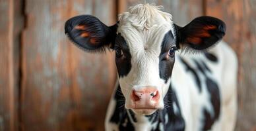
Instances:
[[[202,54],[179,54],[190,65],[191,60],[203,60],[212,70],[212,79],[217,81],[220,88],[220,117],[212,125],[212,130],[234,130],[236,124],[237,112],[237,58],[226,43],[220,41],[216,47],[210,50],[218,58],[218,63],[212,63]],[[197,71],[199,73],[199,71]],[[200,75],[199,75],[200,77]],[[185,130],[199,130],[203,126],[203,107],[207,107],[210,115],[213,114],[212,106],[209,105],[208,91],[205,85],[202,86],[202,92],[199,93],[198,87],[190,73],[185,71],[183,64],[176,59],[172,72],[172,84],[176,90],[177,98],[181,106],[181,113],[185,119]]]

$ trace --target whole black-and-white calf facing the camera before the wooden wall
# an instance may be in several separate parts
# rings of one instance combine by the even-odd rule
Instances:
[[[139,4],[113,26],[91,15],[65,23],[65,34],[87,52],[115,51],[117,84],[105,129],[234,130],[238,62],[211,16],[174,24],[161,6]]]

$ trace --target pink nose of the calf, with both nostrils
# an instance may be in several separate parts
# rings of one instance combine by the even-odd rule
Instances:
[[[156,108],[159,98],[158,90],[151,86],[134,89],[131,93],[131,99],[135,105],[134,108]]]

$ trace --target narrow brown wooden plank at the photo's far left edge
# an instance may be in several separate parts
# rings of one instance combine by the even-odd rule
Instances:
[[[0,1],[0,130],[14,126],[13,1]]]

